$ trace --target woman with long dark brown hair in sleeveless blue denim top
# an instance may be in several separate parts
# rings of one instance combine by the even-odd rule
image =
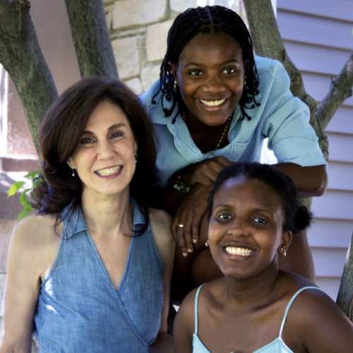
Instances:
[[[39,214],[9,250],[1,353],[173,352],[167,335],[174,240],[147,208],[152,124],[123,83],[68,88],[40,128]]]

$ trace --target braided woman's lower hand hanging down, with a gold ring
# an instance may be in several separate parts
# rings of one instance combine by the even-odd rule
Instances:
[[[172,222],[172,234],[181,247],[184,256],[193,252],[193,243],[198,242],[200,224],[207,210],[207,198],[210,188],[196,184],[190,193],[181,201],[177,214]],[[179,227],[178,225],[184,225]]]

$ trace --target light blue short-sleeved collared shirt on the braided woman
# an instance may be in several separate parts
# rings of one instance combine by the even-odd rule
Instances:
[[[160,88],[160,81],[140,95],[140,100],[150,115],[157,135],[157,175],[159,186],[167,185],[169,177],[190,164],[223,156],[231,162],[258,162],[263,139],[268,138],[268,148],[273,150],[279,163],[289,162],[301,167],[326,164],[318,145],[315,131],[309,124],[309,108],[289,90],[290,80],[280,61],[255,56],[260,85],[254,109],[246,109],[251,120],[240,120],[239,105],[230,124],[229,145],[213,153],[202,153],[197,148],[182,117],[166,118],[162,110],[160,92],[152,104],[152,97]],[[172,102],[163,101],[164,107]]]

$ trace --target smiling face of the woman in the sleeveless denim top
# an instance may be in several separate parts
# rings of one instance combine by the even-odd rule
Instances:
[[[92,112],[68,165],[77,170],[84,193],[115,195],[133,178],[137,143],[123,110],[101,102]]]

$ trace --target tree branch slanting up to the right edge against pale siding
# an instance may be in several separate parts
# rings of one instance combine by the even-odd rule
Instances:
[[[337,108],[352,96],[353,85],[353,52],[350,54],[345,66],[335,80],[331,82],[330,90],[318,106],[316,116],[323,128],[328,126]]]

